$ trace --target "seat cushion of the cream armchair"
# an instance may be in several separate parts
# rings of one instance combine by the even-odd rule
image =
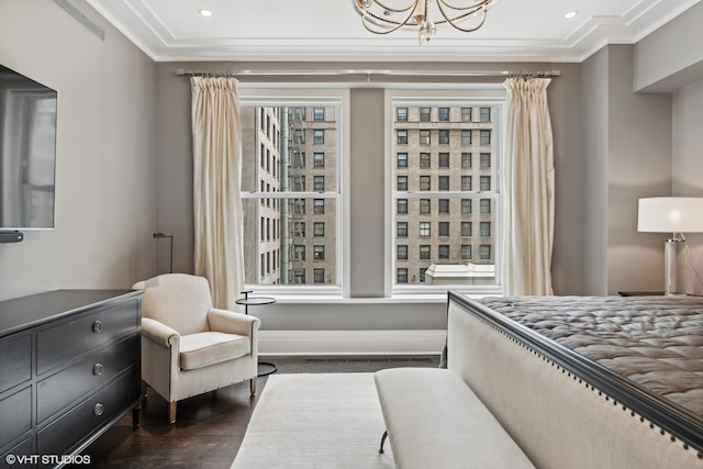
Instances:
[[[244,357],[252,351],[249,337],[202,332],[180,337],[180,368],[196,370]]]

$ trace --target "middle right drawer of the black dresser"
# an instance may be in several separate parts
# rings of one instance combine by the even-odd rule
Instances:
[[[140,336],[133,335],[90,354],[37,384],[37,422],[89,394],[138,361]]]

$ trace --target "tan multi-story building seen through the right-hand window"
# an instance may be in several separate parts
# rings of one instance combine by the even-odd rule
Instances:
[[[398,288],[400,292],[414,288],[436,289],[437,278],[425,278],[425,271],[432,264],[439,267],[469,261],[494,264],[496,233],[492,224],[496,214],[493,204],[498,203],[500,196],[496,192],[499,181],[495,179],[494,159],[500,157],[500,148],[479,148],[486,142],[490,146],[492,139],[500,136],[500,104],[487,105],[481,101],[480,105],[467,105],[458,99],[450,105],[444,103],[449,100],[444,100],[432,108],[413,104],[411,100],[420,101],[417,97],[392,99],[397,105],[393,109],[406,108],[409,119],[401,123],[393,115],[389,124],[390,135],[402,130],[409,138],[408,147],[401,147],[397,139],[391,138],[392,155],[405,153],[405,148],[408,153],[402,163],[398,156],[389,160],[390,180],[393,181],[390,201],[393,205],[388,213],[395,230],[392,239],[394,250],[388,256],[388,261],[391,263],[389,271],[395,276],[390,279],[394,280],[393,291]],[[423,108],[425,110],[421,111]],[[479,122],[481,119],[488,121]],[[437,125],[435,122],[443,122],[445,129],[432,127]],[[447,122],[451,122],[450,129]],[[472,155],[477,157],[476,165]],[[398,183],[399,177],[403,178],[401,185]],[[473,210],[475,203],[477,209],[488,208],[489,211]],[[479,239],[480,244],[471,243]],[[442,268],[435,271],[442,271]],[[464,288],[467,282],[480,288],[496,284],[493,277],[465,279],[458,283]]]

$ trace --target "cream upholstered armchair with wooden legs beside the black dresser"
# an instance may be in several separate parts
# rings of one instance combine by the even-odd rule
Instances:
[[[249,380],[256,392],[254,316],[212,306],[203,277],[165,273],[133,287],[142,295],[142,380],[168,401],[176,422],[182,399]]]

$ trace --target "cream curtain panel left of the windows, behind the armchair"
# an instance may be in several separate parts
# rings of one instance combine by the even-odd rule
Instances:
[[[215,308],[239,311],[244,231],[237,80],[192,77],[194,273],[210,281]]]

